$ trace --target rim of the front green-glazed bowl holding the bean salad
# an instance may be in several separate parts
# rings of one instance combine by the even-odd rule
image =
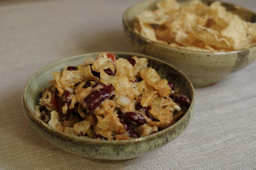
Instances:
[[[48,133],[50,133],[52,135],[58,136],[58,137],[60,137],[62,139],[65,139],[67,141],[73,141],[73,142],[82,143],[82,144],[123,145],[123,144],[126,144],[126,143],[130,143],[130,144],[141,143],[143,141],[152,140],[154,138],[163,136],[166,133],[168,133],[169,131],[172,131],[175,128],[177,128],[178,126],[180,126],[181,122],[185,119],[185,117],[188,117],[192,113],[192,110],[193,110],[192,108],[193,108],[194,102],[195,102],[194,87],[193,87],[191,81],[188,79],[188,77],[182,71],[180,71],[178,68],[176,68],[175,66],[173,66],[172,64],[170,64],[168,62],[165,62],[165,61],[162,61],[160,59],[157,59],[157,58],[154,58],[154,57],[151,57],[151,56],[148,56],[148,55],[144,55],[144,54],[132,53],[132,52],[118,52],[118,51],[106,51],[106,52],[107,53],[113,53],[113,54],[116,54],[116,55],[133,55],[133,56],[135,55],[135,56],[138,56],[138,57],[146,57],[148,59],[156,60],[156,61],[158,61],[160,63],[168,65],[169,67],[172,67],[174,70],[177,71],[177,73],[179,73],[181,76],[183,76],[188,81],[188,83],[190,85],[190,93],[192,95],[191,95],[191,104],[190,104],[188,110],[185,112],[185,114],[177,122],[175,122],[173,125],[171,125],[168,128],[165,128],[165,129],[163,129],[163,130],[161,130],[161,131],[159,131],[157,133],[154,133],[154,134],[151,134],[151,135],[148,135],[148,136],[134,138],[134,139],[126,139],[126,140],[95,140],[95,139],[91,139],[91,138],[83,138],[83,137],[80,137],[80,136],[74,136],[74,135],[71,135],[71,134],[67,134],[67,133],[64,133],[64,132],[62,132],[60,130],[57,130],[57,129],[54,129],[54,128],[50,127],[47,123],[45,123],[42,120],[40,120],[35,115],[35,113],[32,110],[29,109],[28,103],[27,103],[27,100],[26,100],[26,93],[27,93],[27,90],[28,90],[27,89],[28,88],[28,84],[38,74],[40,74],[41,72],[43,72],[47,68],[51,68],[52,66],[58,64],[59,62],[63,62],[63,61],[70,60],[70,59],[73,59],[73,58],[79,58],[79,57],[82,57],[82,56],[98,55],[99,53],[102,53],[102,52],[92,52],[92,53],[85,53],[85,54],[75,55],[75,56],[71,56],[71,57],[68,57],[68,58],[63,58],[63,59],[54,61],[54,62],[52,62],[52,63],[50,63],[50,64],[48,64],[46,66],[43,66],[38,71],[36,71],[29,78],[29,80],[26,82],[24,90],[22,92],[22,105],[25,107],[24,109],[26,109],[26,111],[27,111],[27,112],[24,112],[24,114],[28,114],[29,118],[34,123],[36,123],[36,125],[39,126],[42,130],[45,130],[46,132],[48,132]]]

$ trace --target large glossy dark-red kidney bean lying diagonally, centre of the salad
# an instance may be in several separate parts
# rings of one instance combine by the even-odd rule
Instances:
[[[114,91],[114,87],[112,85],[106,86],[102,89],[97,89],[89,94],[84,99],[83,107],[84,109],[94,110],[96,109],[101,102],[110,98],[112,96],[112,92]]]

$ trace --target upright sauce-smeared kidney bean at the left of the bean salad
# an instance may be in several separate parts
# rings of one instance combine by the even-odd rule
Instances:
[[[72,96],[71,93],[67,90],[65,90],[61,96],[61,100],[60,100],[60,106],[61,108],[59,109],[59,116],[62,120],[69,120],[70,116],[71,116],[71,110],[69,109],[69,105],[71,104],[71,100],[72,100]],[[62,107],[63,106],[67,106],[67,113],[63,113],[62,112]]]

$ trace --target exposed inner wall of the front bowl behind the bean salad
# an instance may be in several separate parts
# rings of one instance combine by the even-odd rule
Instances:
[[[175,68],[171,64],[168,64],[164,61],[161,61],[143,54],[120,53],[120,52],[110,52],[110,53],[114,53],[117,57],[123,57],[123,58],[129,58],[134,55],[138,57],[148,58],[148,63],[149,63],[148,66],[153,67],[161,76],[161,78],[166,78],[168,81],[173,82],[175,87],[179,87],[179,92],[186,94],[190,99],[193,96],[193,87],[190,81],[188,80],[188,78],[181,71],[179,71],[177,68]],[[38,90],[40,88],[45,88],[49,84],[48,82],[53,79],[51,74],[52,72],[56,72],[56,71],[62,72],[65,66],[69,66],[69,65],[75,66],[75,65],[81,64],[83,63],[84,60],[86,60],[89,57],[96,58],[98,54],[99,52],[95,52],[95,53],[83,54],[83,55],[62,59],[54,63],[51,63],[43,67],[42,69],[38,70],[29,79],[24,89],[24,99],[26,100],[28,108],[32,112],[35,112],[34,107],[38,104],[38,100],[39,100]]]

